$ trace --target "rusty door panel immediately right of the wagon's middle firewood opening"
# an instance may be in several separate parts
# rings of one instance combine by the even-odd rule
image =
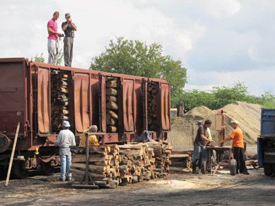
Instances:
[[[134,132],[133,98],[134,80],[123,80],[123,124],[125,132]]]

